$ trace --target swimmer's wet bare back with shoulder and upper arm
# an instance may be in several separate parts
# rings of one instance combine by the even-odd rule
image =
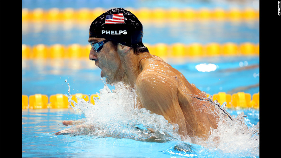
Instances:
[[[142,92],[143,107],[163,115],[170,123],[177,123],[182,135],[206,137],[210,127],[217,128],[217,116],[209,113],[214,107],[193,97],[206,98],[205,92],[157,56],[143,59],[141,65],[136,86]]]

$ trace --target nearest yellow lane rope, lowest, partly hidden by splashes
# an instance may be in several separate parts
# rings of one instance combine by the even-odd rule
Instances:
[[[47,96],[44,94],[24,95],[22,94],[22,109],[44,109],[44,108],[70,108],[73,101],[77,102],[77,98],[82,98],[95,104],[93,97],[100,98],[97,94],[73,94],[72,102],[68,102],[67,96],[63,94],[53,94]],[[207,94],[207,97],[211,97]],[[227,94],[225,92],[218,92],[212,95],[213,100],[217,100],[221,106],[226,103],[227,108],[254,108],[259,109],[259,92],[251,96],[249,93],[237,92],[234,94]]]

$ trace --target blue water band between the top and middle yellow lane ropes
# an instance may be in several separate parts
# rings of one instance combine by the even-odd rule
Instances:
[[[24,44],[88,44],[88,23],[23,23]],[[143,24],[143,43],[173,44],[216,42],[259,43],[259,21],[149,22]],[[67,27],[67,29],[66,29]],[[44,38],[42,38],[44,37]]]

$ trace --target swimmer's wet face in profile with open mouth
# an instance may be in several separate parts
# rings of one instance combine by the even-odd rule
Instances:
[[[104,38],[89,38],[89,44],[104,41]],[[106,78],[106,83],[112,84],[118,81],[120,70],[120,56],[111,41],[106,42],[102,49],[96,52],[93,47],[90,50],[89,59],[95,61],[95,65],[102,69],[101,77]]]

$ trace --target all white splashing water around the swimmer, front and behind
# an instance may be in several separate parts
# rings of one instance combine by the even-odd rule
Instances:
[[[135,89],[129,88],[122,82],[114,86],[115,90],[110,90],[108,85],[104,84],[104,88],[98,93],[100,99],[93,98],[95,105],[85,102],[82,98],[77,98],[77,103],[74,102],[74,106],[71,108],[83,112],[85,115],[83,119],[85,128],[79,129],[80,134],[86,133],[97,138],[116,137],[139,141],[191,143],[188,138],[181,140],[177,132],[178,126],[168,123],[163,116],[152,114],[145,108],[136,108],[138,100]],[[68,97],[71,101],[71,96]],[[216,107],[220,113],[220,121],[218,128],[212,129],[207,140],[198,139],[197,142],[192,142],[200,145],[200,147],[194,148],[197,156],[198,153],[201,155],[203,153],[207,153],[207,155],[223,154],[227,157],[233,157],[233,155],[235,157],[259,156],[259,123],[248,128],[245,125],[244,112],[237,117],[231,116],[225,110],[226,103],[220,106],[220,103],[212,100],[212,97],[204,99]],[[171,149],[167,149],[165,153],[182,156],[194,154],[185,150],[175,152],[175,149],[179,149],[181,146],[175,145]]]

